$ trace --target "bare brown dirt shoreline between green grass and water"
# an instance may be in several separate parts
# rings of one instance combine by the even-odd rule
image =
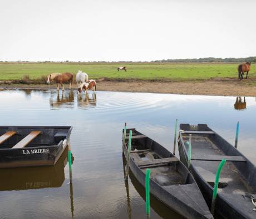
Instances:
[[[97,90],[141,93],[211,95],[211,96],[256,96],[256,86],[249,85],[252,80],[218,78],[191,81],[146,81],[146,80],[98,80]],[[64,85],[69,89],[69,85]],[[0,84],[0,89],[56,89],[47,84]],[[77,89],[73,84],[72,89]]]

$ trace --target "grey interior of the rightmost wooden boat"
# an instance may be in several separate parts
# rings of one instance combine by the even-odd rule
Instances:
[[[253,165],[207,125],[181,124],[181,136],[186,153],[191,134],[191,164],[203,179],[214,187],[219,163],[226,159],[219,179],[219,192],[244,195],[256,193],[256,176],[250,174]],[[254,171],[255,172],[255,171]]]

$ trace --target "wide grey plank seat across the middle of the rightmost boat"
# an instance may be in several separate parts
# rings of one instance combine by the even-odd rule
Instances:
[[[226,155],[192,155],[191,160],[207,160],[207,161],[227,161],[246,162],[247,160],[242,156],[226,156]]]

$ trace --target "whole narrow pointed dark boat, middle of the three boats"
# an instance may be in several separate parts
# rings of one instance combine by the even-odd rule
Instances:
[[[149,168],[150,193],[157,199],[183,217],[213,218],[193,176],[165,147],[135,129],[127,129],[124,144],[126,160],[130,130],[130,170],[140,184],[145,186],[145,172]]]

